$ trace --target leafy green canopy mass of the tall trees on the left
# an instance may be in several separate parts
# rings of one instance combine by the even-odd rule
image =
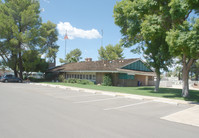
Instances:
[[[0,56],[15,76],[19,71],[23,78],[24,69],[29,70],[22,58],[32,54],[27,50],[45,53],[50,62],[55,62],[59,48],[56,25],[42,23],[39,0],[0,0],[0,32]]]

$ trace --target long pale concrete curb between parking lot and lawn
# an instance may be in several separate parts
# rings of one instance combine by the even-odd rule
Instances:
[[[173,105],[176,105],[176,106],[179,105],[179,104],[186,104],[186,105],[198,104],[198,103],[192,102],[192,101],[182,101],[182,100],[159,98],[159,97],[152,97],[152,96],[142,96],[142,95],[135,95],[135,94],[119,93],[119,92],[92,90],[92,89],[77,88],[77,87],[70,87],[70,86],[42,84],[42,83],[29,83],[29,84],[40,85],[40,86],[49,86],[49,87],[53,87],[53,88],[60,88],[60,89],[79,91],[79,92],[87,92],[87,93],[92,93],[92,94],[103,94],[103,95],[110,95],[110,96],[123,96],[125,98],[137,99],[137,100],[152,100],[154,102],[173,104]]]

